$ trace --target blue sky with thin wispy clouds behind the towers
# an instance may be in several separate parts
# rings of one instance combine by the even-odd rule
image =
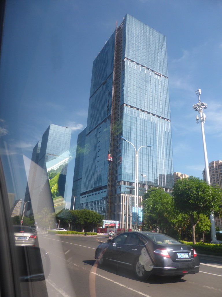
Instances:
[[[75,151],[86,127],[92,63],[126,13],[166,36],[174,171],[202,178],[201,127],[192,109],[199,88],[208,105],[208,161],[222,159],[222,1],[10,0],[1,52],[0,135],[12,160],[22,156],[27,169],[50,123],[72,128]],[[74,160],[67,201],[73,171]],[[19,184],[18,172],[13,174]]]

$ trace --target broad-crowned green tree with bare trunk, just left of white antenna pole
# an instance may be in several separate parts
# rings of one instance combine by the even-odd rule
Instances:
[[[194,176],[178,179],[173,188],[175,206],[179,212],[188,214],[192,224],[192,241],[195,244],[195,228],[200,214],[210,215],[221,204],[221,189],[213,187]]]

